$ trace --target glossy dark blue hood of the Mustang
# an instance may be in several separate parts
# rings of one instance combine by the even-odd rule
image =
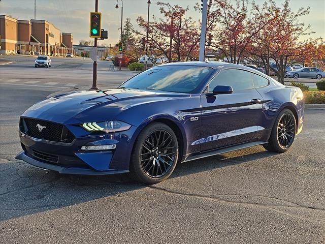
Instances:
[[[133,106],[188,96],[140,89],[77,90],[49,97],[28,108],[22,116],[67,124],[105,121]]]

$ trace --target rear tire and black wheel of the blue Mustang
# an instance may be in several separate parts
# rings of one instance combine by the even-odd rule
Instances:
[[[295,115],[289,109],[283,109],[275,119],[269,143],[263,145],[269,151],[284,153],[294,143],[297,130]]]

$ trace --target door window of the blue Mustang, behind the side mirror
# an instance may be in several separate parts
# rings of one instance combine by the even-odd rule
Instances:
[[[230,85],[234,90],[252,89],[252,73],[244,70],[229,69],[221,71],[210,82],[208,91],[212,92],[217,85]]]

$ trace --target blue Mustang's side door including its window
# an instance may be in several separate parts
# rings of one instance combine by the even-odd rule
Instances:
[[[214,76],[206,92],[217,85],[230,85],[234,92],[201,95],[201,151],[256,141],[263,121],[262,96],[253,88],[252,73],[226,69]]]

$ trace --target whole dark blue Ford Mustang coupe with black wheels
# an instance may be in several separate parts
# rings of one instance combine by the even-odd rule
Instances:
[[[179,162],[255,145],[283,153],[303,119],[300,88],[254,69],[166,64],[116,89],[63,92],[31,106],[16,159],[62,174],[130,172],[155,184]]]

